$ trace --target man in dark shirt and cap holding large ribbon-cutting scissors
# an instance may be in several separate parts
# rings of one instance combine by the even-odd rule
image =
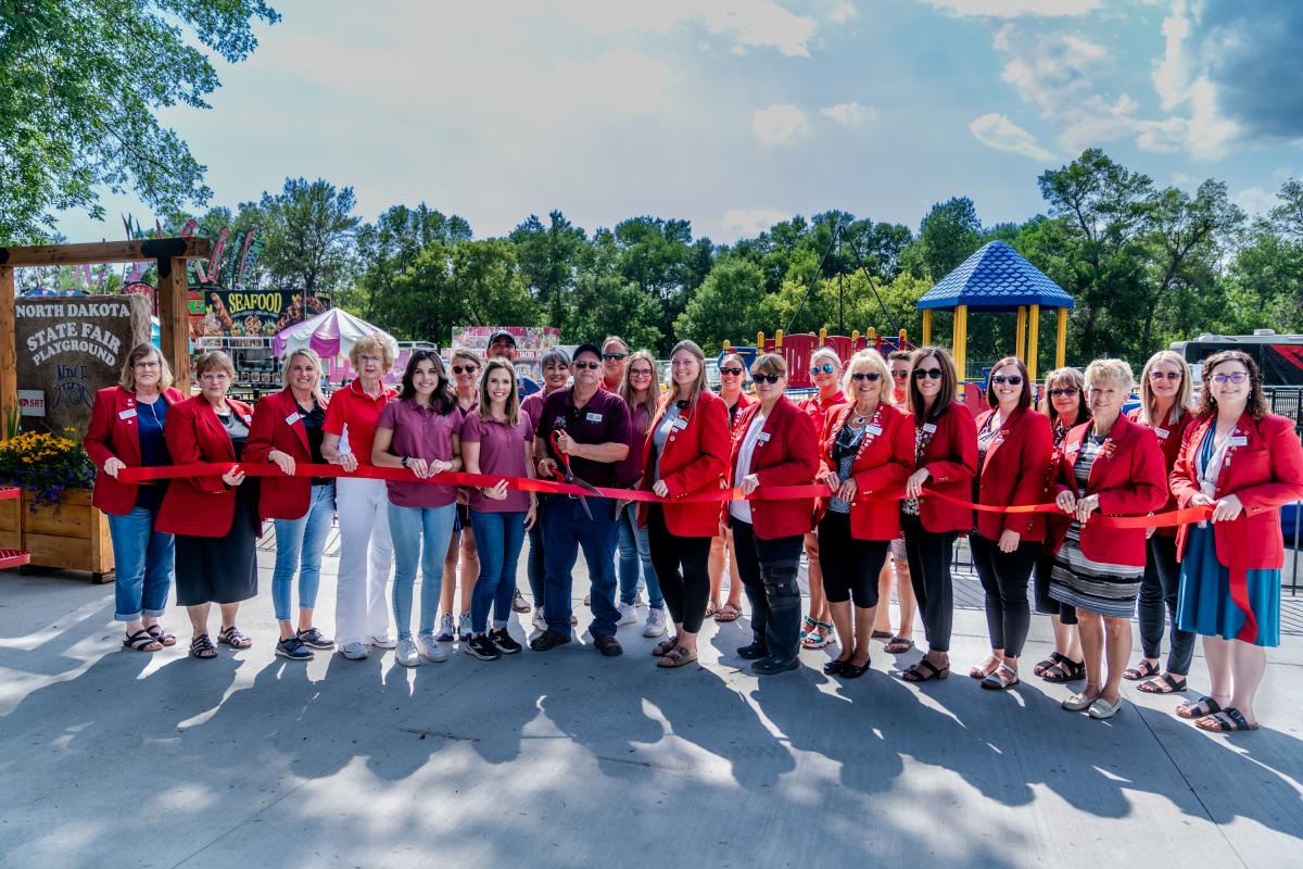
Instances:
[[[618,464],[629,451],[629,408],[619,395],[601,388],[602,352],[595,345],[580,344],[575,349],[571,371],[575,384],[549,395],[536,423],[538,476],[551,478],[556,470],[551,449],[552,431],[556,431],[556,447],[568,456],[576,477],[593,486],[615,486]],[[593,645],[606,657],[623,651],[615,638],[615,623],[620,618],[615,608],[616,502],[589,495],[588,507],[592,519],[576,498],[549,498],[543,507],[547,629],[529,644],[537,651],[571,641],[572,571],[580,548],[593,588],[593,623],[589,625]]]

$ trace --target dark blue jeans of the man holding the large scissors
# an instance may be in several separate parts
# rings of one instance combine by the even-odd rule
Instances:
[[[588,517],[577,498],[547,500],[543,511],[543,615],[549,631],[571,633],[571,573],[582,548],[593,586],[593,623],[588,632],[599,640],[614,637],[615,623],[620,619],[620,611],[615,608],[615,502],[590,496],[588,506],[593,519]]]

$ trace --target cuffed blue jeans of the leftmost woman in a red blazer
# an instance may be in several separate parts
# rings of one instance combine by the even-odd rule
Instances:
[[[171,534],[154,530],[155,511],[136,507],[126,516],[108,516],[113,541],[113,619],[156,619],[167,606],[176,547]]]

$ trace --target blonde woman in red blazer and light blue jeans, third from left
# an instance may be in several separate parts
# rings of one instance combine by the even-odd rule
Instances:
[[[285,388],[258,401],[245,444],[245,461],[274,463],[285,477],[263,477],[258,517],[276,529],[276,567],[271,573],[271,601],[280,623],[276,654],[291,661],[311,661],[313,649],[331,649],[335,641],[313,625],[321,585],[322,551],[335,521],[335,478],[294,477],[298,463],[326,464],[322,439],[326,396],[322,395],[322,360],[315,350],[294,350],[281,369]],[[334,464],[339,464],[336,460]],[[289,620],[289,598],[298,572],[298,629]]]

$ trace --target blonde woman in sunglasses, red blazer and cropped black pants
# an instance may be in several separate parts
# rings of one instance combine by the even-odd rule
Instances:
[[[891,369],[877,350],[860,350],[846,367],[851,403],[833,409],[820,435],[818,556],[823,593],[842,653],[823,664],[830,676],[859,679],[869,668],[869,640],[878,606],[878,575],[900,535],[895,490],[913,470],[913,423],[894,406]],[[851,603],[855,615],[851,615]]]

